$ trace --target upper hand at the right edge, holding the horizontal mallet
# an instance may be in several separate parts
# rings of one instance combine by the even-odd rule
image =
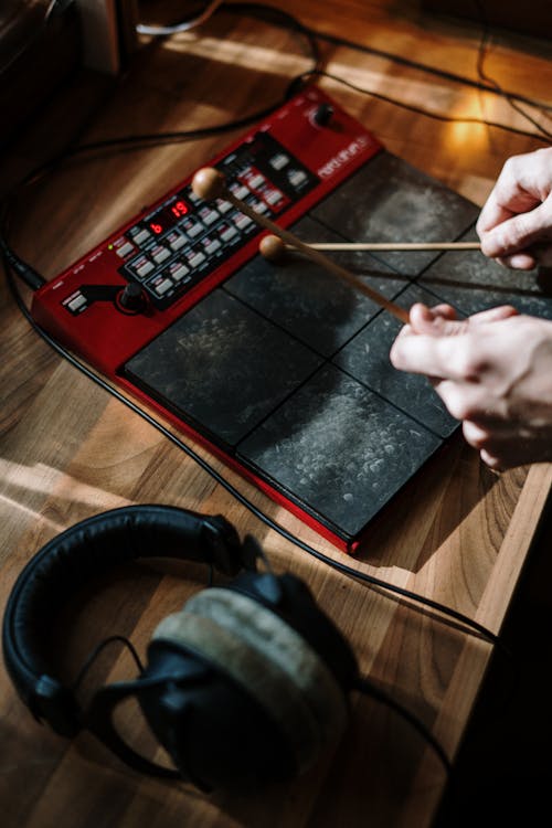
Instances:
[[[477,232],[485,255],[507,267],[552,267],[552,147],[508,159]]]

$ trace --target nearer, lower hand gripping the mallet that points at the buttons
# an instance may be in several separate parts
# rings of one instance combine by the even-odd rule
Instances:
[[[552,322],[509,306],[458,320],[448,305],[416,304],[390,357],[429,378],[490,468],[552,460]]]

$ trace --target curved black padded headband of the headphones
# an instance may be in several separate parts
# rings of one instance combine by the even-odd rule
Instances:
[[[140,558],[202,561],[235,575],[252,569],[235,529],[221,516],[169,506],[129,506],[96,514],[52,539],[20,573],[6,607],[2,647],[18,693],[62,735],[81,729],[72,692],[50,673],[42,651],[61,603],[86,581]]]

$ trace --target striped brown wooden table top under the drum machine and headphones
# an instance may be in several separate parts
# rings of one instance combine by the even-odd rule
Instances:
[[[117,81],[106,84],[91,73],[75,78],[4,159],[6,180],[22,174],[39,147],[42,158],[56,152],[74,137],[76,124],[82,141],[189,130],[226,124],[282,99],[290,79],[311,66],[305,39],[227,6],[198,31],[146,44]],[[508,156],[544,146],[523,134],[537,128],[503,96],[453,77],[477,81],[479,25],[431,15],[415,0],[278,6],[328,35],[319,47],[333,77],[320,77],[320,86],[389,150],[471,201],[484,203]],[[488,75],[510,93],[552,105],[552,43],[495,32],[491,44]],[[416,68],[416,61],[438,72]],[[523,106],[550,130],[545,112]],[[513,130],[433,119],[416,107],[482,117]],[[10,242],[51,278],[242,131],[76,156],[18,191]],[[415,601],[340,574],[265,527],[151,425],[54,353],[22,317],[4,279],[0,291],[2,611],[24,563],[83,518],[145,502],[221,513],[241,535],[251,532],[262,542],[277,572],[308,582],[350,641],[361,673],[418,716],[454,757],[493,645]],[[28,291],[22,294],[26,300]],[[495,475],[457,434],[393,509],[373,521],[365,550],[347,559],[221,463],[214,465],[273,520],[331,560],[439,602],[492,634],[507,615],[552,479],[549,465]],[[74,676],[112,634],[128,636],[144,654],[156,624],[180,608],[199,583],[191,567],[171,565],[127,567],[91,585],[62,608],[55,638],[60,669]],[[134,675],[119,650],[106,651],[95,672],[99,681]],[[254,796],[206,796],[130,772],[87,733],[65,741],[39,726],[2,669],[2,824],[429,826],[446,783],[442,763],[385,705],[355,694],[350,702],[346,735],[299,779]]]

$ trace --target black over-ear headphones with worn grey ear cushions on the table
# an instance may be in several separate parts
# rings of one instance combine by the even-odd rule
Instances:
[[[202,789],[302,773],[343,732],[358,666],[305,583],[257,572],[258,552],[224,518],[168,506],[115,509],[67,529],[31,559],[8,601],[3,657],[19,696],[60,735],[88,730],[132,768]],[[161,620],[138,678],[100,688],[82,710],[49,668],[44,633],[88,577],[140,558],[204,561],[233,580]],[[131,696],[177,769],[117,732],[115,709]]]

